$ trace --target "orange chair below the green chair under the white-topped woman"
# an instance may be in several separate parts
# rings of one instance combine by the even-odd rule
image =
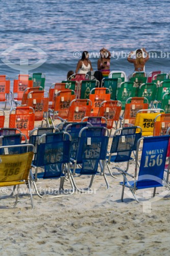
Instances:
[[[90,116],[92,102],[89,99],[74,99],[70,102],[68,122],[81,122],[83,117]]]

